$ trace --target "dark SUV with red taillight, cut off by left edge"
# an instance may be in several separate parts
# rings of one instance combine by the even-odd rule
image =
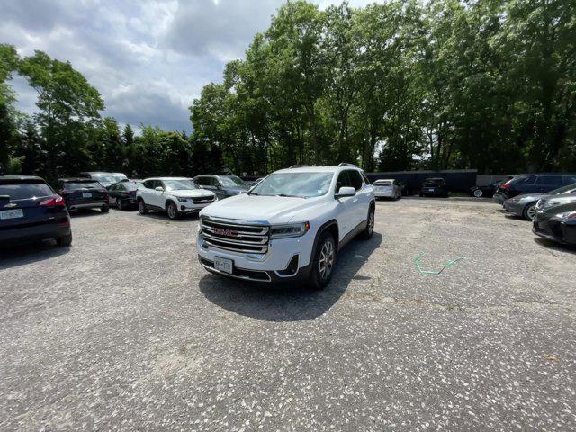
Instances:
[[[40,177],[0,175],[0,245],[51,238],[72,243],[64,199]]]

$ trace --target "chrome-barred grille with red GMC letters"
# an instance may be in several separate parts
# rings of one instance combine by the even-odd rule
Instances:
[[[202,216],[202,238],[211,247],[266,254],[270,227],[215,220]]]

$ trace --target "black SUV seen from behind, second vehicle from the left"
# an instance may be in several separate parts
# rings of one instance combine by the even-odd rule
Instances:
[[[68,211],[100,209],[107,213],[108,193],[100,182],[90,178],[59,178],[56,188],[66,201]]]

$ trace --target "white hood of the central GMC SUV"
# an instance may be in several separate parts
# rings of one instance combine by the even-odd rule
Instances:
[[[203,209],[200,214],[223,219],[287,223],[305,220],[307,210],[317,209],[319,205],[319,198],[257,196],[242,193],[215,202]]]

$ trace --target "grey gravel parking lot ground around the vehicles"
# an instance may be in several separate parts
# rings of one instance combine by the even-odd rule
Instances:
[[[0,430],[574,430],[575,251],[490,201],[376,211],[324,292],[207,274],[195,218],[4,250]]]

